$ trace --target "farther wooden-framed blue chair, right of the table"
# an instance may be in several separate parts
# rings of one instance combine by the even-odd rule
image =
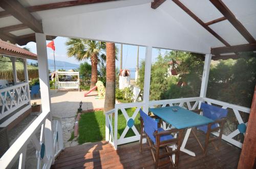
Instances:
[[[204,148],[203,148],[202,144],[200,143],[199,139],[197,138],[196,133],[194,131],[192,132],[193,135],[197,138],[197,141],[198,141],[201,149],[203,150],[204,154],[206,155],[206,149],[210,142],[212,143],[212,145],[215,147],[216,150],[219,149],[218,147],[220,146],[220,143],[221,143],[223,127],[226,122],[225,117],[227,116],[228,110],[202,103],[201,111],[203,111],[203,116],[214,120],[214,122],[212,122],[208,125],[203,125],[203,126],[197,127],[198,130],[201,130],[203,133],[206,134]],[[215,137],[215,138],[210,138],[211,132],[219,132],[219,136]],[[217,141],[217,140],[219,140],[219,145],[215,146],[214,142],[212,142],[212,141]]]

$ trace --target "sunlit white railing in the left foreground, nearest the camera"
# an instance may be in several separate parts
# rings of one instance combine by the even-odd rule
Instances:
[[[1,168],[15,167],[13,165],[17,159],[18,168],[26,168],[29,143],[32,143],[36,149],[36,168],[50,168],[55,156],[63,149],[60,119],[52,118],[50,112],[42,112],[2,156]]]

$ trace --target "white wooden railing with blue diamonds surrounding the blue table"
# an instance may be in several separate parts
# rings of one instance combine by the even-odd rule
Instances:
[[[239,124],[245,124],[246,122],[243,122],[243,119],[239,113],[249,113],[250,109],[242,106],[237,106],[225,102],[220,102],[213,99],[208,98],[182,98],[182,99],[170,99],[170,100],[160,100],[160,101],[151,101],[148,103],[148,106],[153,107],[165,107],[165,106],[181,106],[188,110],[195,110],[199,109],[202,102],[206,102],[208,104],[216,104],[219,106],[222,106],[222,108],[231,108],[234,112],[234,115],[237,117]],[[133,141],[138,141],[140,138],[139,131],[135,127],[135,118],[139,113],[139,109],[145,106],[146,104],[144,102],[140,103],[124,103],[124,104],[116,104],[115,108],[105,113],[105,133],[106,133],[106,141],[109,141],[115,149],[117,149],[117,146],[124,143],[129,143]],[[134,108],[134,112],[130,116],[127,114],[126,109],[127,108]],[[126,120],[126,127],[120,133],[120,137],[118,138],[118,131],[120,132],[120,129],[118,128],[118,110],[121,112],[121,114],[124,116]],[[114,115],[113,115],[114,114]],[[114,119],[113,119],[114,118]],[[113,123],[114,120],[114,123]],[[166,129],[167,126],[165,123],[163,123],[163,128]],[[129,129],[132,129],[135,133],[135,136],[131,137],[125,137]],[[239,142],[235,139],[233,139],[234,136],[238,135],[240,133],[239,129],[236,129],[232,133],[228,135],[222,136],[222,139],[226,140],[227,142],[242,148],[242,142]],[[218,133],[214,133],[215,135],[218,135]]]

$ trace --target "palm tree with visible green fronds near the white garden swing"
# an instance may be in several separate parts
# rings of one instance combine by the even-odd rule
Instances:
[[[67,52],[68,57],[74,56],[78,61],[90,58],[92,64],[90,88],[94,87],[98,78],[98,59],[99,57],[102,59],[106,57],[103,54],[103,51],[105,50],[105,42],[70,38],[66,42],[66,45],[69,46]]]

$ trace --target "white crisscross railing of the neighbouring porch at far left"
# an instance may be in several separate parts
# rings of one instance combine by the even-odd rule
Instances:
[[[30,102],[29,84],[20,83],[0,89],[0,119]]]

